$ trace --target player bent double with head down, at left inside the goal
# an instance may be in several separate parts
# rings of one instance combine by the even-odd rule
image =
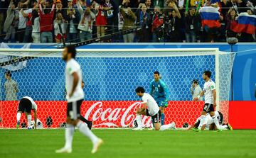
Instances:
[[[21,101],[19,101],[19,103],[18,103],[18,112],[17,112],[17,115],[16,115],[16,117],[17,117],[16,128],[18,128],[20,123],[21,123],[21,113],[26,113],[27,120],[28,120],[28,129],[30,129],[29,125],[31,125],[31,118],[32,118],[31,117],[31,110],[33,110],[34,120],[36,121],[36,119],[37,119],[37,105],[31,97],[24,96],[23,98],[21,98]],[[36,129],[36,125],[35,125],[35,129]]]

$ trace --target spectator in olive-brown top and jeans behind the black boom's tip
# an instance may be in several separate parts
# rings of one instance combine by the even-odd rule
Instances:
[[[135,13],[130,6],[130,0],[123,0],[120,12],[124,18],[124,27],[122,30],[129,30],[135,28],[134,21],[136,21]],[[132,43],[134,40],[134,33],[123,35],[124,43]]]

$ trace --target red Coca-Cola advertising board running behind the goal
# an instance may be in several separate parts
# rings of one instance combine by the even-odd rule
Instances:
[[[65,101],[36,101],[36,104],[38,105],[38,118],[44,127],[46,127],[46,118],[49,116],[53,120],[50,128],[59,128],[60,124],[65,122]],[[18,101],[0,102],[0,117],[2,118],[0,128],[15,127],[17,106]],[[83,101],[81,114],[93,121],[94,128],[127,128],[132,127],[136,116],[135,111],[139,106],[140,103],[137,101]],[[203,102],[201,101],[169,101],[169,106],[164,112],[165,124],[174,121],[178,128],[181,128],[183,123],[191,125],[200,116],[202,108]],[[255,110],[255,101],[231,101],[229,122],[234,128],[256,129],[255,116],[252,114]],[[24,115],[21,117],[21,122],[23,121],[26,121]],[[149,126],[151,119],[144,117],[143,124]]]

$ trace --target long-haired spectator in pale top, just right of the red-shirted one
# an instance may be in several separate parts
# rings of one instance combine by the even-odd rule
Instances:
[[[54,35],[56,43],[63,43],[65,42],[66,35],[66,24],[63,15],[60,12],[56,13],[56,18],[53,21],[54,24]]]

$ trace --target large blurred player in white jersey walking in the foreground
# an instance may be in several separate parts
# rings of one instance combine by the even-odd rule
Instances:
[[[102,145],[102,140],[89,130],[85,123],[80,120],[80,106],[85,96],[82,91],[82,69],[80,64],[75,61],[76,50],[73,45],[68,45],[63,50],[63,60],[66,62],[65,67],[65,82],[67,89],[67,126],[65,128],[65,146],[56,150],[57,153],[71,153],[72,141],[75,132],[75,126],[82,132],[83,135],[90,138],[92,141],[92,154],[97,152],[97,149]]]

